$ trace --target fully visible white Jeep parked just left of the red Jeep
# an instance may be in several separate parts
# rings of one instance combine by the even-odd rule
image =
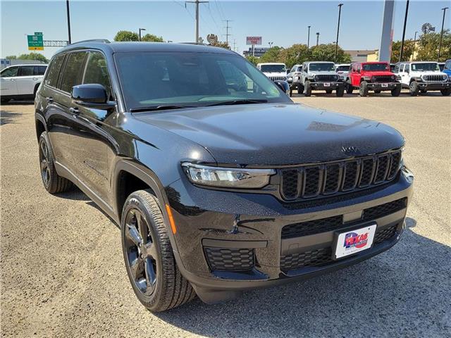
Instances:
[[[327,94],[335,90],[337,96],[343,96],[345,93],[345,82],[335,72],[335,64],[333,62],[304,62],[300,89],[305,96],[311,96],[312,90],[325,90]]]

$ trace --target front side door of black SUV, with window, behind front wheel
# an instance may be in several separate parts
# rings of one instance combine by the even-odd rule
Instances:
[[[105,87],[109,101],[114,101],[111,80],[106,59],[99,51],[89,51],[82,83],[101,84]],[[100,109],[87,108],[72,102],[74,115],[72,134],[73,170],[75,175],[102,201],[109,200],[109,158],[114,152],[109,138],[108,120],[113,113]],[[113,124],[113,123],[111,123]]]

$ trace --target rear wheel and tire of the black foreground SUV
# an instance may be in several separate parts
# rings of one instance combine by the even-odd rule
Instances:
[[[67,178],[56,173],[54,165],[54,155],[51,151],[47,132],[42,132],[39,137],[39,169],[41,172],[42,184],[50,194],[66,192],[73,187],[73,183]]]

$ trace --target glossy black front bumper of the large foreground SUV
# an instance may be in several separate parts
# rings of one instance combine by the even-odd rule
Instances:
[[[368,194],[297,206],[269,195],[202,189],[181,179],[166,189],[177,226],[175,257],[184,277],[207,303],[234,298],[247,289],[344,268],[397,243],[404,230],[412,184],[413,179],[400,173],[395,182]],[[362,211],[401,199],[406,201],[405,206],[393,213],[362,216]],[[283,238],[286,225],[337,217],[342,221],[336,229]],[[376,235],[390,232],[390,236],[382,236],[383,240],[371,249],[336,261],[331,258],[337,230],[369,223],[376,223]],[[236,270],[234,264],[246,268]]]

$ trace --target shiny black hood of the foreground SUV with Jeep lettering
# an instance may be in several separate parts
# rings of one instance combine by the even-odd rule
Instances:
[[[135,113],[144,123],[204,146],[220,164],[293,165],[400,148],[397,130],[299,104],[246,104]],[[152,135],[149,135],[152,142]],[[348,154],[342,148],[354,149]]]

